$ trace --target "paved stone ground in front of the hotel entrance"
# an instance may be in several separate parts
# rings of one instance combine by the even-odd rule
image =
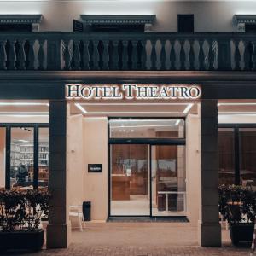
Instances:
[[[189,223],[90,223],[73,231],[68,249],[43,250],[22,256],[248,256],[250,248],[232,247],[227,230],[223,247],[197,246],[197,228]],[[2,254],[3,255],[3,254]],[[256,255],[255,255],[256,256]]]

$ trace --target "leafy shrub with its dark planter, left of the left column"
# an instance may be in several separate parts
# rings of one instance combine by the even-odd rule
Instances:
[[[40,250],[44,244],[41,216],[48,216],[47,190],[0,190],[0,251]]]

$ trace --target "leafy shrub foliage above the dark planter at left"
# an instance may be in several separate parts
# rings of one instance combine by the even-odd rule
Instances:
[[[49,192],[0,189],[0,230],[38,230],[41,218],[48,218]]]

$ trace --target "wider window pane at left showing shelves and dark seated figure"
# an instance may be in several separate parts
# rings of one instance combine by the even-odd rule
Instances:
[[[10,144],[10,187],[32,187],[34,178],[34,129],[12,127]]]

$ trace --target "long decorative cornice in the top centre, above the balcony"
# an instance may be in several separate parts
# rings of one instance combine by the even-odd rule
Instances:
[[[88,25],[153,24],[155,15],[80,15]]]

